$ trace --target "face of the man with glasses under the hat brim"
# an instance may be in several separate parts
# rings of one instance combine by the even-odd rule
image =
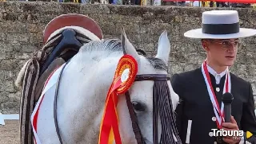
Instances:
[[[234,64],[241,43],[238,39],[203,40],[202,45],[214,63],[220,66],[231,66]]]

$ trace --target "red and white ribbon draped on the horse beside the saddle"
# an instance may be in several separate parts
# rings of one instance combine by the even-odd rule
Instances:
[[[42,89],[42,94],[40,95],[40,97],[38,99],[38,103],[36,103],[36,105],[34,107],[34,111],[31,115],[31,125],[32,125],[32,129],[33,129],[35,144],[41,144],[41,142],[38,138],[38,134],[37,134],[38,111],[40,109],[40,105],[41,105],[43,98],[47,91],[53,91],[52,93],[47,93],[47,95],[54,97],[54,95],[55,95],[54,91],[55,91],[56,85],[58,83],[58,76],[60,75],[62,68],[64,67],[65,64],[66,63],[64,63],[64,64],[62,64],[62,66],[56,68],[54,70],[54,72],[52,72],[50,74],[50,76],[47,78],[46,83],[44,84],[44,88]],[[52,88],[54,88],[54,90],[52,90]]]

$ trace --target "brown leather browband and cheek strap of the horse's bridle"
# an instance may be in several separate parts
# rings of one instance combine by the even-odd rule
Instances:
[[[168,75],[168,74],[143,74],[143,75],[137,75],[134,81],[144,81],[144,80],[166,81],[166,80],[170,80],[170,75]],[[125,95],[126,95],[127,107],[128,107],[129,113],[130,113],[130,120],[132,122],[132,127],[133,127],[133,130],[134,130],[134,135],[135,135],[135,138],[137,140],[137,143],[138,144],[146,144],[146,142],[144,141],[144,138],[142,136],[142,132],[141,132],[139,126],[138,126],[137,115],[134,112],[134,108],[133,108],[132,103],[130,101],[129,91],[126,91]],[[154,123],[153,125],[158,126],[157,123]],[[157,143],[154,143],[154,144],[157,144]]]

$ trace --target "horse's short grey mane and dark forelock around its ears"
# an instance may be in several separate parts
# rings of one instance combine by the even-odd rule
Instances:
[[[90,41],[82,46],[80,49],[82,53],[91,53],[91,52],[104,52],[104,54],[110,54],[114,52],[122,53],[122,44],[118,39],[102,39],[100,41]],[[153,56],[145,56],[146,60],[148,60],[155,69],[165,70],[168,72],[168,66],[166,63],[156,57]]]

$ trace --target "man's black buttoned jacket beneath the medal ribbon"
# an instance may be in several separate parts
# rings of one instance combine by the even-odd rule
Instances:
[[[220,84],[215,83],[215,78],[210,74],[212,86],[221,106],[222,90],[225,76],[222,76]],[[240,130],[249,130],[256,134],[256,118],[254,114],[254,95],[251,84],[242,80],[230,72],[231,93],[234,96],[231,115],[238,123]],[[177,126],[182,143],[186,144],[187,126],[190,120],[190,144],[215,144],[216,137],[210,137],[210,132],[217,129],[214,121],[214,109],[208,95],[206,83],[202,75],[201,67],[190,72],[174,74],[171,79],[174,91],[180,97],[180,103],[176,108]],[[220,91],[215,88],[219,87]],[[255,136],[254,136],[255,138]],[[214,143],[215,142],[215,143]]]

